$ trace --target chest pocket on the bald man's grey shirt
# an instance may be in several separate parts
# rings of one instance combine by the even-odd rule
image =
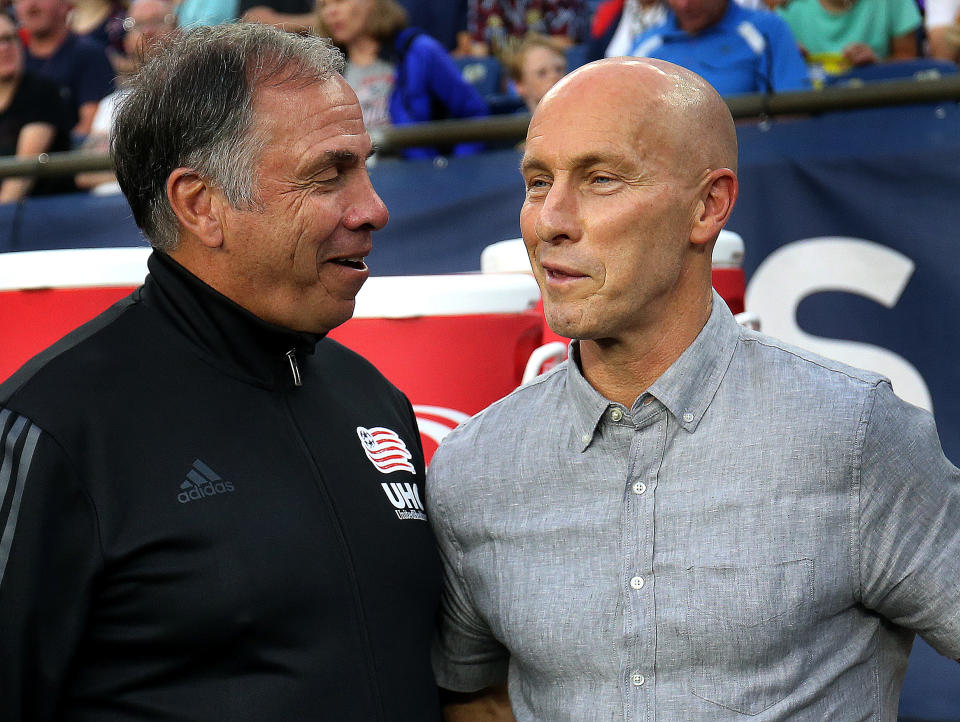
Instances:
[[[800,686],[812,633],[812,559],[686,574],[692,694],[756,715]]]

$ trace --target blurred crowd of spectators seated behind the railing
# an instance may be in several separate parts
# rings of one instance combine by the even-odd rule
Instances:
[[[13,0],[0,13],[0,155],[107,149],[124,78],[152,45],[238,20],[331,38],[370,128],[532,111],[570,68],[604,56],[670,60],[725,95],[960,61],[960,0]],[[11,178],[0,203],[111,181]]]

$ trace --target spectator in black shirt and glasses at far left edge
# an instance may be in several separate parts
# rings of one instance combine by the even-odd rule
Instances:
[[[23,48],[13,21],[0,13],[0,155],[36,156],[70,149],[70,114],[56,83],[24,69]],[[34,193],[72,190],[62,178],[5,178],[0,203]]]

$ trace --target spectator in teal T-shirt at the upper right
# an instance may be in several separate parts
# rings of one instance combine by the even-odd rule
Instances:
[[[807,62],[828,75],[917,57],[915,0],[790,0],[777,8]]]

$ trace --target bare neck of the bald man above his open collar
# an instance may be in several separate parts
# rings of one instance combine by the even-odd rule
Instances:
[[[710,318],[712,295],[665,317],[655,328],[619,339],[583,340],[583,376],[597,391],[627,408],[673,365]]]

